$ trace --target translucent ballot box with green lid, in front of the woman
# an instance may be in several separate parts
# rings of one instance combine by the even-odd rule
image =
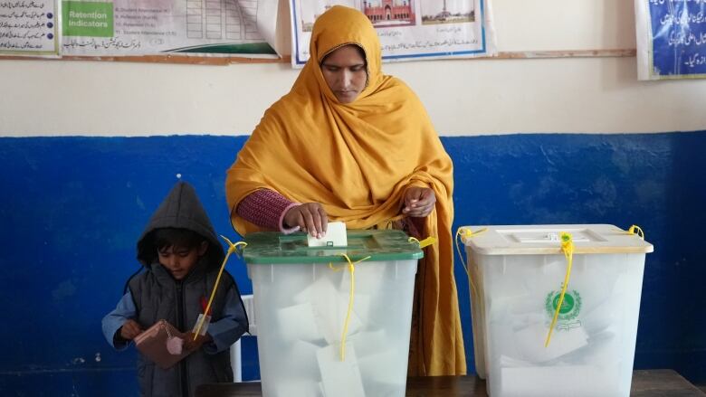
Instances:
[[[309,247],[304,233],[245,241],[264,396],[405,395],[418,243],[352,230],[347,247]]]

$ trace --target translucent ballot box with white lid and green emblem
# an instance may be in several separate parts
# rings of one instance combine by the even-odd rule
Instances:
[[[572,267],[547,344],[567,276],[565,233]],[[606,224],[464,226],[462,236],[475,362],[492,397],[630,394],[652,244]]]

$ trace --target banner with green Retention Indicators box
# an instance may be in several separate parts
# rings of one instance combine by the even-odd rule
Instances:
[[[267,38],[276,12],[272,0],[64,0],[62,54],[274,58]]]

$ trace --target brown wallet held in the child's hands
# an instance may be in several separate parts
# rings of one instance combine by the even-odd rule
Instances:
[[[167,369],[193,352],[183,348],[185,338],[186,334],[179,332],[167,320],[159,320],[135,337],[135,345],[157,366]]]

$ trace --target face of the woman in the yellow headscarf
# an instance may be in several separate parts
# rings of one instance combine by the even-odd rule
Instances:
[[[329,89],[340,103],[350,103],[366,88],[366,60],[360,47],[349,44],[329,53],[321,61]]]

